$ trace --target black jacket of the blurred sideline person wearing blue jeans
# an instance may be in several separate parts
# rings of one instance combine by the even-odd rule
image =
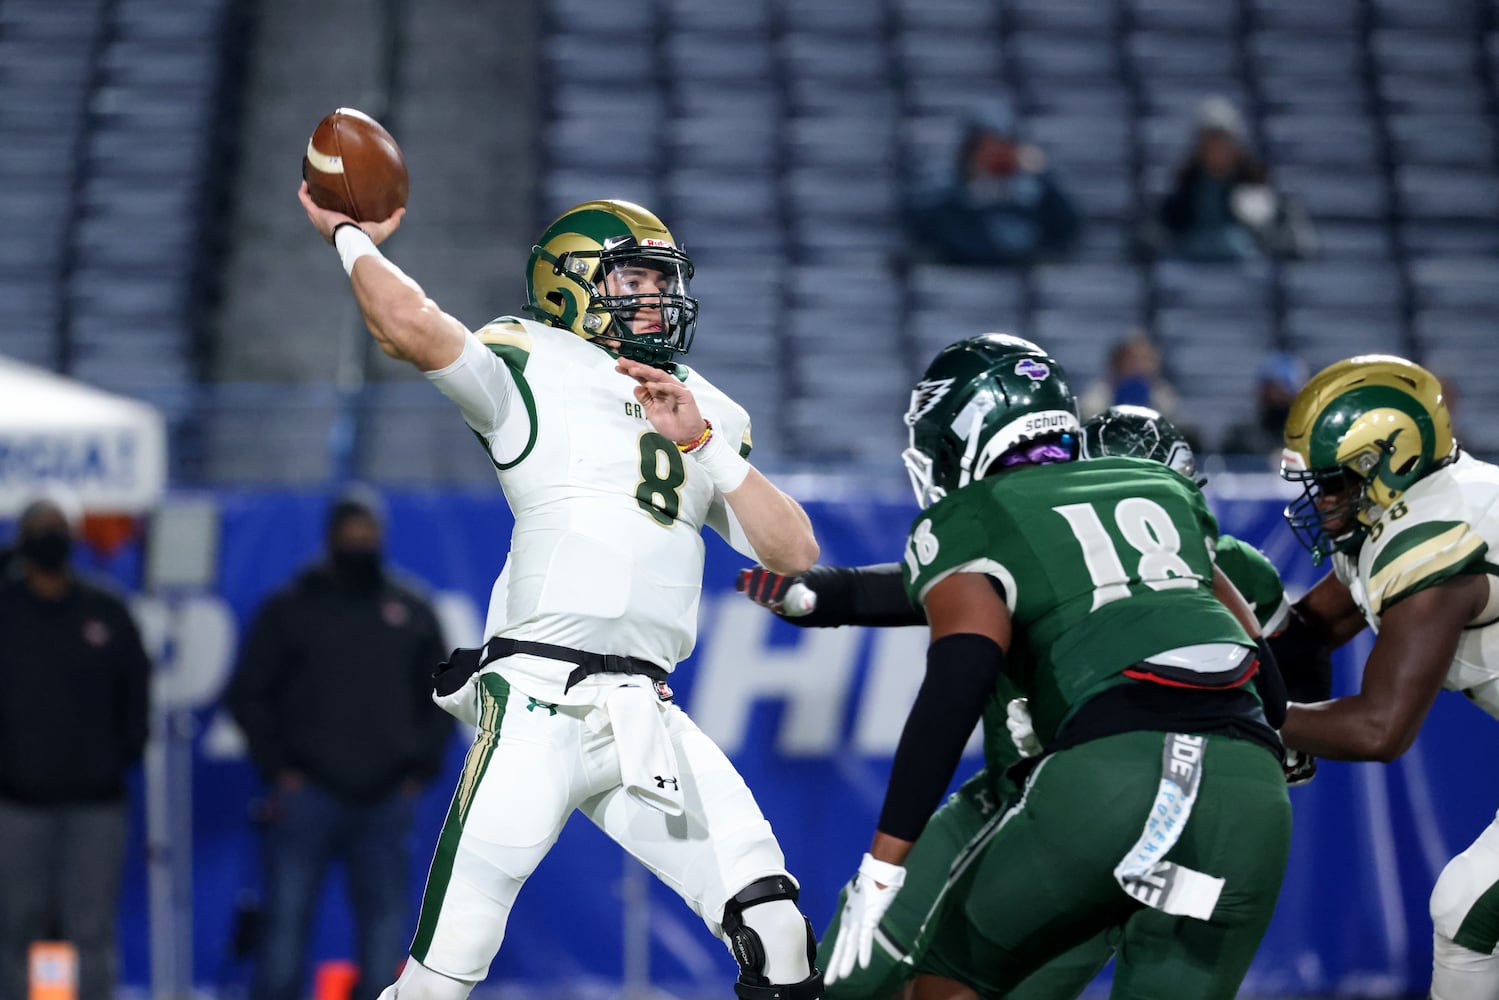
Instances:
[[[255,618],[225,700],[267,783],[285,771],[372,802],[442,768],[453,720],[432,703],[447,658],[424,600],[390,577],[343,585],[301,573]]]

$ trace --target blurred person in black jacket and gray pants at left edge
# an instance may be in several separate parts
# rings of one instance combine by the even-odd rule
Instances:
[[[120,598],[70,570],[58,502],[22,513],[0,579],[0,996],[31,942],[78,949],[79,1000],[114,996],[126,777],[145,750],[151,664]]]

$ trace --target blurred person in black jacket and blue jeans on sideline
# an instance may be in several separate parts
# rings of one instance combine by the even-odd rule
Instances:
[[[451,720],[430,699],[447,652],[438,619],[382,568],[381,538],[372,499],[336,502],[327,562],[265,601],[229,682],[229,711],[271,790],[255,1000],[303,996],[333,861],[346,867],[363,981],[394,978],[406,955],[412,807]]]

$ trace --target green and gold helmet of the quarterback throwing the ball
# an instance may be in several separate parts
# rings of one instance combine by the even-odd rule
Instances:
[[[691,280],[691,258],[660,219],[628,201],[586,201],[531,247],[526,312],[660,366],[693,346]]]

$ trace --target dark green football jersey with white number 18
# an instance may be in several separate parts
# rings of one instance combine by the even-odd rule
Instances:
[[[998,585],[1028,649],[1007,658],[1007,672],[1045,744],[1148,657],[1198,643],[1253,646],[1213,597],[1217,534],[1202,493],[1157,462],[1022,466],[916,519],[905,585],[922,606],[953,573]]]

